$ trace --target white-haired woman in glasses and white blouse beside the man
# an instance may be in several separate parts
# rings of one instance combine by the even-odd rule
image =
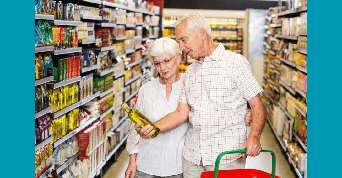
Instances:
[[[135,107],[155,122],[175,111],[178,106],[183,86],[183,74],[178,70],[181,51],[177,42],[163,37],[151,45],[149,56],[160,76],[141,86]],[[251,115],[248,114],[246,125],[251,122]],[[142,139],[133,126],[132,123],[127,138],[130,162],[125,178],[183,178],[182,151],[189,122],[148,140]]]

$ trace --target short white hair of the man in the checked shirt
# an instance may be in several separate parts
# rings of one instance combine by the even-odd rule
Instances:
[[[200,28],[206,29],[208,38],[211,39],[211,28],[210,28],[208,20],[203,15],[199,13],[185,14],[182,18],[178,19],[174,23],[175,28],[177,28],[177,26],[181,24],[183,21],[187,22],[187,25],[188,25],[187,27],[189,30],[193,30],[196,32]]]

